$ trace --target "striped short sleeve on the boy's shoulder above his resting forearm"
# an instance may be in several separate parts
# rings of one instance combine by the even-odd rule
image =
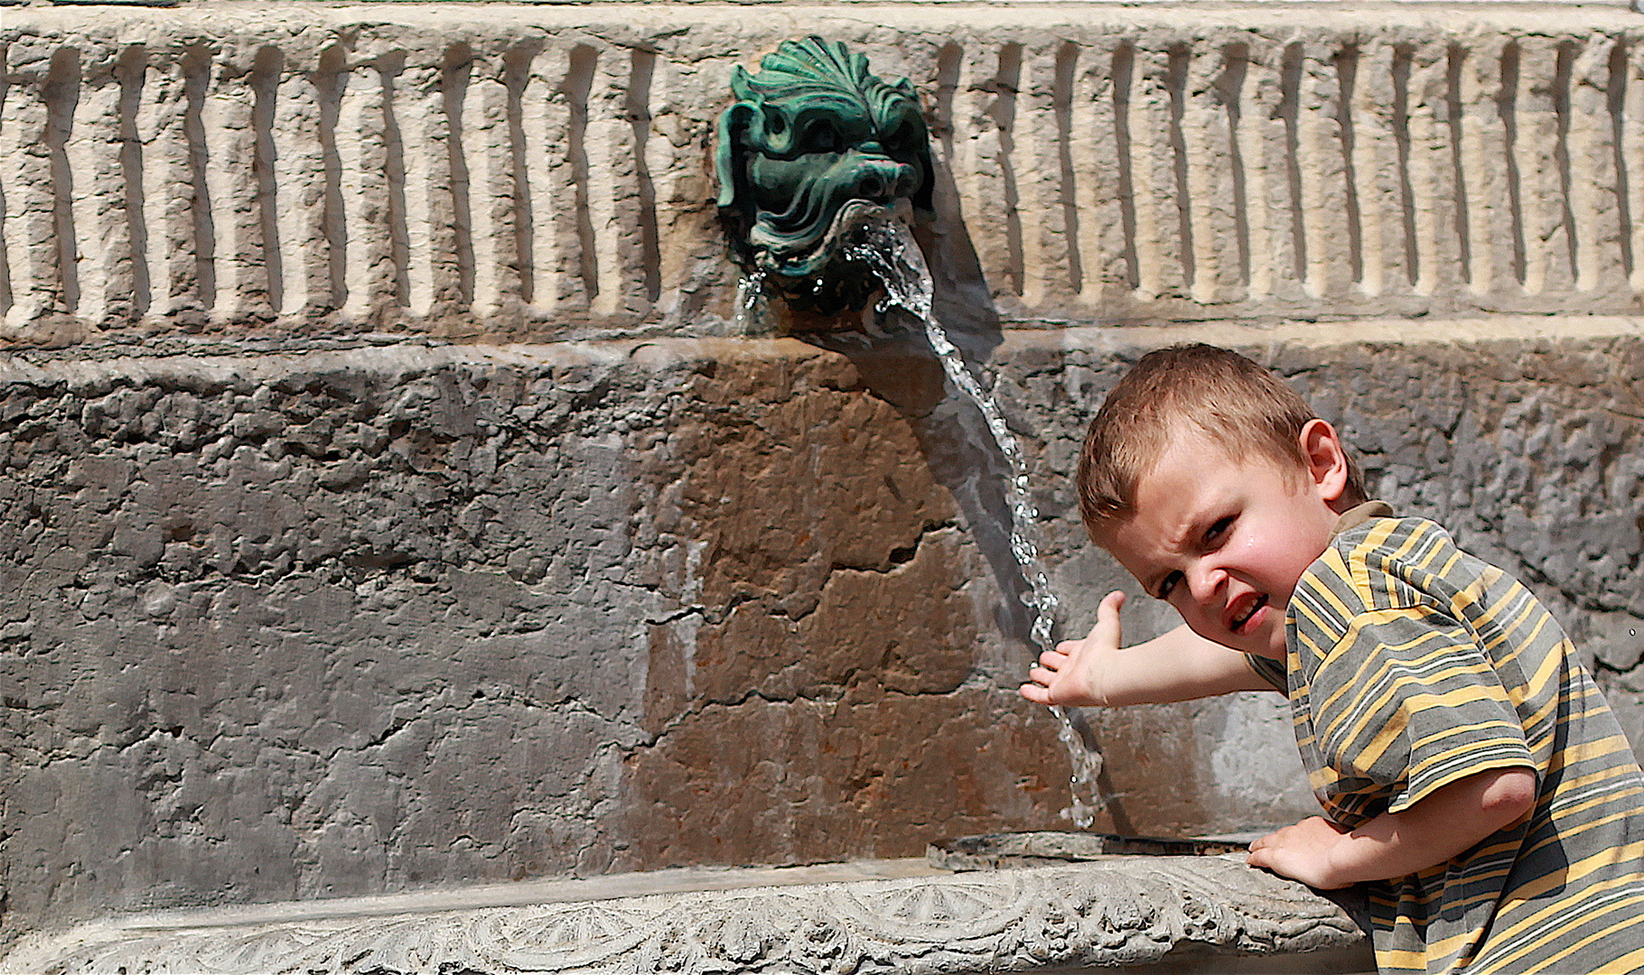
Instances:
[[[1420,607],[1355,617],[1312,674],[1314,732],[1351,819],[1401,812],[1494,768],[1534,768],[1524,727],[1473,633]]]

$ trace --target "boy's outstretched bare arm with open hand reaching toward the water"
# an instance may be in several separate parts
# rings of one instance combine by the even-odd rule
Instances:
[[[1120,648],[1120,607],[1124,594],[1110,592],[1097,607],[1097,625],[1083,640],[1065,640],[1039,654],[1039,666],[1021,686],[1037,704],[1123,707],[1213,697],[1233,691],[1272,691],[1245,654],[1177,626],[1164,636]]]

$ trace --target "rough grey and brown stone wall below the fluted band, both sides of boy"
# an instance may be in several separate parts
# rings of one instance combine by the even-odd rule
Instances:
[[[1537,326],[1243,347],[1545,597],[1636,733],[1644,335]],[[1240,335],[1001,335],[1064,631],[1123,582],[1072,506],[1083,423],[1146,347]],[[13,357],[7,922],[1059,825],[1000,460],[932,375],[907,335]],[[1103,827],[1309,809],[1274,695],[1092,719]]]

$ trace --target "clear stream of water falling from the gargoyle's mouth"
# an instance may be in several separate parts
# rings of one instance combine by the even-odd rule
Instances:
[[[1011,510],[1011,556],[1021,567],[1028,580],[1029,592],[1023,602],[1034,610],[1034,622],[1029,635],[1041,649],[1051,649],[1051,631],[1055,626],[1055,592],[1051,590],[1051,579],[1046,575],[1044,562],[1039,561],[1039,510],[1028,493],[1028,460],[1023,457],[1016,434],[1004,423],[1000,404],[993,395],[983,388],[981,381],[965,365],[958,349],[947,337],[947,330],[937,322],[932,312],[931,271],[926,268],[924,253],[919,243],[907,232],[907,227],[893,219],[863,220],[852,232],[845,243],[845,255],[858,260],[884,283],[884,304],[898,306],[924,324],[931,349],[942,362],[942,370],[965,396],[975,403],[988,424],[988,432],[1000,449],[1000,455],[1009,465],[1009,478],[1004,482],[1004,497]],[[1062,814],[1078,827],[1095,822],[1095,814],[1105,806],[1097,791],[1097,776],[1101,774],[1101,755],[1085,748],[1078,730],[1060,705],[1051,705],[1057,720],[1057,738],[1067,746],[1074,774],[1074,807]],[[1090,802],[1085,802],[1085,797]]]

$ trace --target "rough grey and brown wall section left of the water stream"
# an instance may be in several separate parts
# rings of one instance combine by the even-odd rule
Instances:
[[[797,342],[5,367],[7,914],[917,853],[1064,760]]]

